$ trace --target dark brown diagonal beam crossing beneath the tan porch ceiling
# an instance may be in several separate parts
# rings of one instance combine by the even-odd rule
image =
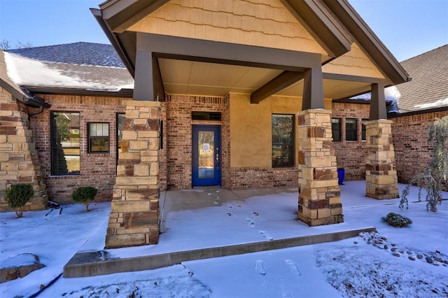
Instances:
[[[295,71],[283,71],[279,76],[276,76],[272,80],[269,80],[265,85],[258,88],[255,92],[251,94],[251,104],[258,104],[263,99],[267,99],[273,94],[285,89],[289,85],[292,85],[299,80],[302,80],[304,73],[299,73]]]

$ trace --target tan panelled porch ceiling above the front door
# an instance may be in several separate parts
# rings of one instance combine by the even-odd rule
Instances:
[[[158,59],[165,92],[225,97],[228,93],[252,94],[282,72],[251,66],[214,64],[177,59]],[[351,97],[370,90],[370,82],[324,78],[324,96],[327,99]],[[286,87],[275,95],[302,97],[303,80]]]

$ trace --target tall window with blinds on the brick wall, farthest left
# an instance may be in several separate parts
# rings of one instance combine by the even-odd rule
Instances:
[[[79,113],[50,113],[51,175],[79,175]]]

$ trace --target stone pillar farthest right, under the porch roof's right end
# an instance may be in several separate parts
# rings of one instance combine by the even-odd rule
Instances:
[[[367,149],[365,162],[366,197],[374,199],[400,197],[391,125],[391,120],[372,120],[365,123]]]

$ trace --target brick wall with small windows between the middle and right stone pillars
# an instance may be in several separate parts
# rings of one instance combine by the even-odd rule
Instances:
[[[332,104],[332,118],[341,118],[341,140],[333,141],[336,150],[336,162],[338,168],[344,168],[344,180],[365,179],[365,141],[361,140],[361,120],[368,119],[370,104]],[[356,118],[358,141],[345,141],[345,119]]]

